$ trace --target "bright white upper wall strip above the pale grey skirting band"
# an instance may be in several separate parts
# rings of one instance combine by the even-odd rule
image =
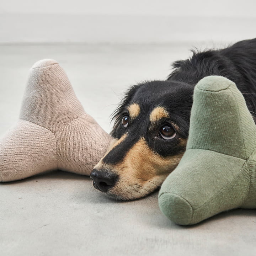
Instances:
[[[1,0],[0,12],[255,17],[255,0]]]

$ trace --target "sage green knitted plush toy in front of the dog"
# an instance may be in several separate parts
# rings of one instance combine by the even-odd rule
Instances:
[[[233,208],[256,208],[256,126],[236,85],[208,76],[194,89],[187,149],[159,192],[177,224]]]

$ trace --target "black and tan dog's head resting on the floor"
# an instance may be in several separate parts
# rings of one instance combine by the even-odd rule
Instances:
[[[193,86],[151,81],[133,86],[114,112],[113,140],[91,172],[94,187],[119,200],[146,196],[186,149]]]

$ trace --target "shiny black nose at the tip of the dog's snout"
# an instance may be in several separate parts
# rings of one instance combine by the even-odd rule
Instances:
[[[107,192],[109,188],[115,185],[118,176],[108,170],[93,169],[90,178],[93,180],[93,185],[97,190]]]

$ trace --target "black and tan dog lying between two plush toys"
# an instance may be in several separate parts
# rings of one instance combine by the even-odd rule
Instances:
[[[256,38],[192,53],[173,64],[167,80],[143,82],[126,92],[113,113],[114,139],[90,175],[97,190],[126,201],[161,186],[186,150],[194,86],[205,76],[235,82],[255,119]]]

